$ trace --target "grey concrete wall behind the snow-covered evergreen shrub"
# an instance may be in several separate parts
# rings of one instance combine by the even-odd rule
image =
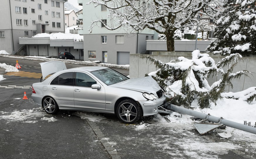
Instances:
[[[146,59],[140,58],[143,56],[150,56],[151,58],[155,58],[157,60],[162,61],[163,63],[170,62],[171,60],[178,59],[179,56],[184,56],[185,58],[192,59],[190,52],[153,52],[154,55],[145,55],[145,54],[130,54],[130,78],[138,78],[138,77],[144,77],[145,74],[148,74],[150,72],[156,71],[157,68],[155,68],[154,63],[146,62]],[[221,55],[214,55],[211,53],[208,53],[215,61],[215,63],[218,63],[221,61],[222,58],[225,56]],[[243,58],[243,61],[240,61],[238,65],[235,67],[234,72],[240,71],[240,70],[247,70],[251,72],[256,72],[256,57],[245,57]],[[242,76],[240,80],[234,80],[232,81],[234,88],[227,88],[227,92],[238,92],[245,90],[249,87],[255,87],[256,86],[256,74],[254,73],[253,76],[244,77]],[[217,77],[208,79],[209,84],[213,84],[213,82],[216,82],[218,79]]]

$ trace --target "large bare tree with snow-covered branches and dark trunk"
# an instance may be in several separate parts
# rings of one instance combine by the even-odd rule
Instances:
[[[165,34],[167,51],[174,51],[174,31],[197,25],[198,14],[213,17],[225,0],[90,0],[87,4],[104,5],[110,11],[108,25],[99,18],[90,31],[103,23],[109,30],[124,26],[127,32],[145,28]]]

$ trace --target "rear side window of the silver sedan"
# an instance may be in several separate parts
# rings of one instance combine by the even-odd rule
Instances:
[[[59,85],[69,85],[73,86],[73,72],[62,73],[61,75],[55,77],[51,84],[59,84]]]

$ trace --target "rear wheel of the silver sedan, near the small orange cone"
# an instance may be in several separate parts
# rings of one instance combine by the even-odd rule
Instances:
[[[59,110],[58,104],[52,97],[43,98],[42,106],[48,114],[56,114]]]

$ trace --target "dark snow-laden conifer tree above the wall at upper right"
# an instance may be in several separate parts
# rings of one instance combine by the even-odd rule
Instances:
[[[256,55],[256,0],[229,0],[217,20],[215,37],[206,51],[222,55]]]

